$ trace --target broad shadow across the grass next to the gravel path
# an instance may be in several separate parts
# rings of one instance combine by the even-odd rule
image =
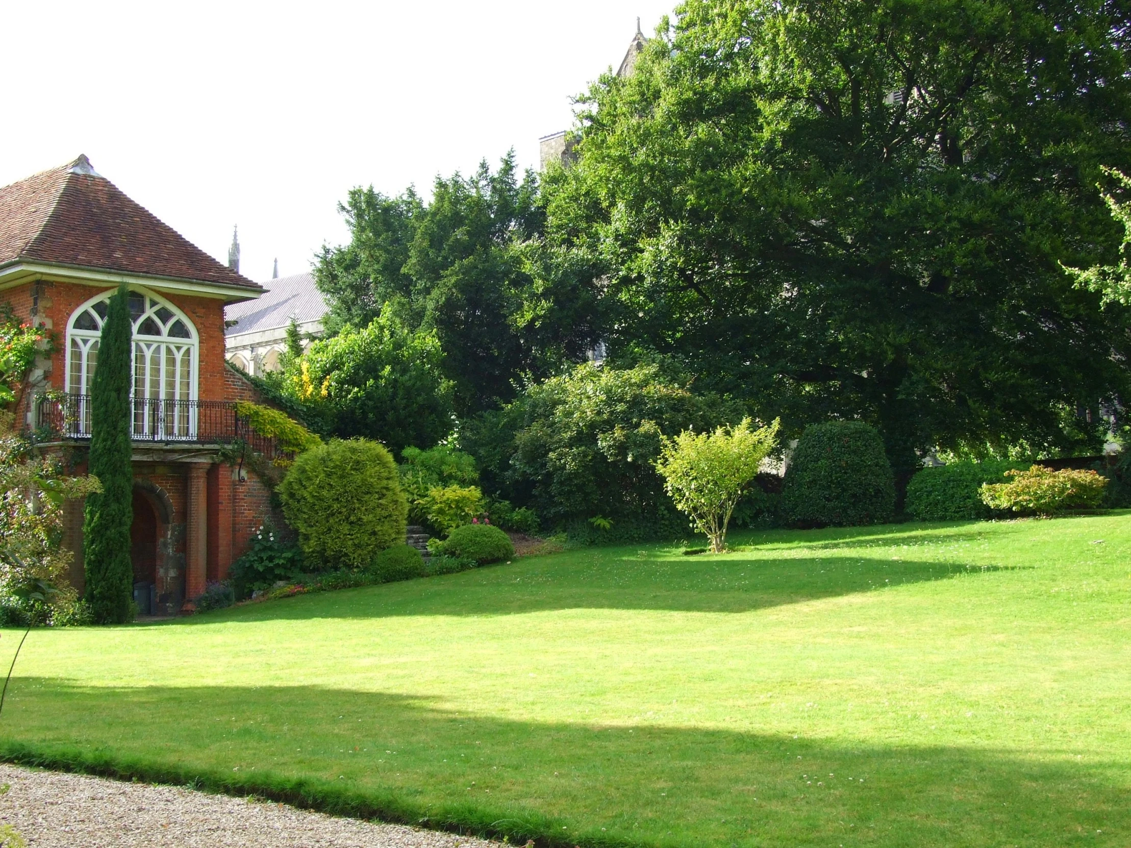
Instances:
[[[1123,762],[538,724],[318,687],[17,678],[0,756],[542,845],[1124,846]]]

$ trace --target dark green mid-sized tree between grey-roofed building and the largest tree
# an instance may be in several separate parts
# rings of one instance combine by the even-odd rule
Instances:
[[[596,337],[592,269],[542,239],[537,180],[513,155],[492,172],[438,179],[423,201],[354,189],[351,241],[314,269],[331,331],[382,312],[434,331],[460,415],[515,396],[516,381],[584,358]]]

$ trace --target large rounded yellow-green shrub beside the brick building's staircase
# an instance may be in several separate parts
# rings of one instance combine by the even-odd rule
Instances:
[[[300,453],[278,493],[308,565],[364,568],[405,540],[408,507],[378,442],[331,441]]]

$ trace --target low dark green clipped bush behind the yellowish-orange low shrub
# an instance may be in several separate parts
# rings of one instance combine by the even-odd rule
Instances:
[[[969,521],[994,516],[978,492],[983,483],[1004,483],[1005,471],[1028,462],[990,460],[923,468],[907,484],[904,510],[920,521]]]

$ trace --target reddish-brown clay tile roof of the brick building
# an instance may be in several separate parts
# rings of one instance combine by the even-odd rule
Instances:
[[[259,291],[130,200],[86,156],[0,188],[0,267],[17,261]]]

